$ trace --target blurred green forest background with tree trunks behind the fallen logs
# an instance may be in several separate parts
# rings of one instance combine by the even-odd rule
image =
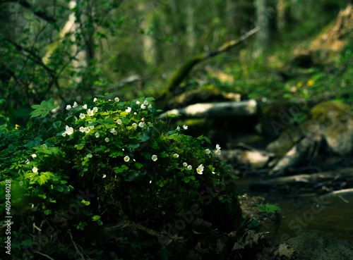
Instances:
[[[63,112],[104,92],[157,99],[186,61],[254,27],[193,67],[182,91],[353,101],[349,1],[0,0],[0,125],[25,125],[50,98]]]

